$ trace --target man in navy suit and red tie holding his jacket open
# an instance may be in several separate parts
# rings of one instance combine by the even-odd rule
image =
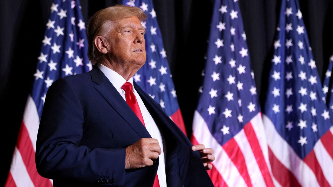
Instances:
[[[213,186],[213,150],[192,146],[133,82],[146,61],[145,19],[137,7],[97,12],[88,25],[93,70],[49,88],[36,166],[54,186]]]

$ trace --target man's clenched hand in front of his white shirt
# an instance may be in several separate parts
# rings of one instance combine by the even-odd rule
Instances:
[[[159,141],[154,138],[141,138],[134,144],[126,147],[125,169],[141,168],[154,164],[161,154]]]

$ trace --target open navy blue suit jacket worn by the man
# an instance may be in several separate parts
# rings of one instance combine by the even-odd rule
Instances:
[[[198,151],[161,106],[136,83],[166,142],[167,186],[213,186]],[[49,88],[36,145],[38,173],[54,186],[153,186],[159,160],[125,169],[125,148],[151,138],[103,72],[58,79]]]

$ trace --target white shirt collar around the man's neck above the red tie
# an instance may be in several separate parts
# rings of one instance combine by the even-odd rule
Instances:
[[[121,89],[121,87],[126,83],[126,80],[121,75],[119,75],[117,72],[115,72],[114,70],[104,66],[101,63],[97,63],[97,66],[99,67],[99,69],[104,73],[104,75],[109,79],[111,84],[117,90]],[[127,82],[129,82],[133,85],[133,77],[131,77],[131,79],[129,79]],[[134,88],[133,88],[133,90],[134,90]]]

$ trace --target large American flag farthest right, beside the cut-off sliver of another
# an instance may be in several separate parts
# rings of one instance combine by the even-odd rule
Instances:
[[[297,0],[282,0],[264,108],[276,186],[333,186],[333,128]]]

